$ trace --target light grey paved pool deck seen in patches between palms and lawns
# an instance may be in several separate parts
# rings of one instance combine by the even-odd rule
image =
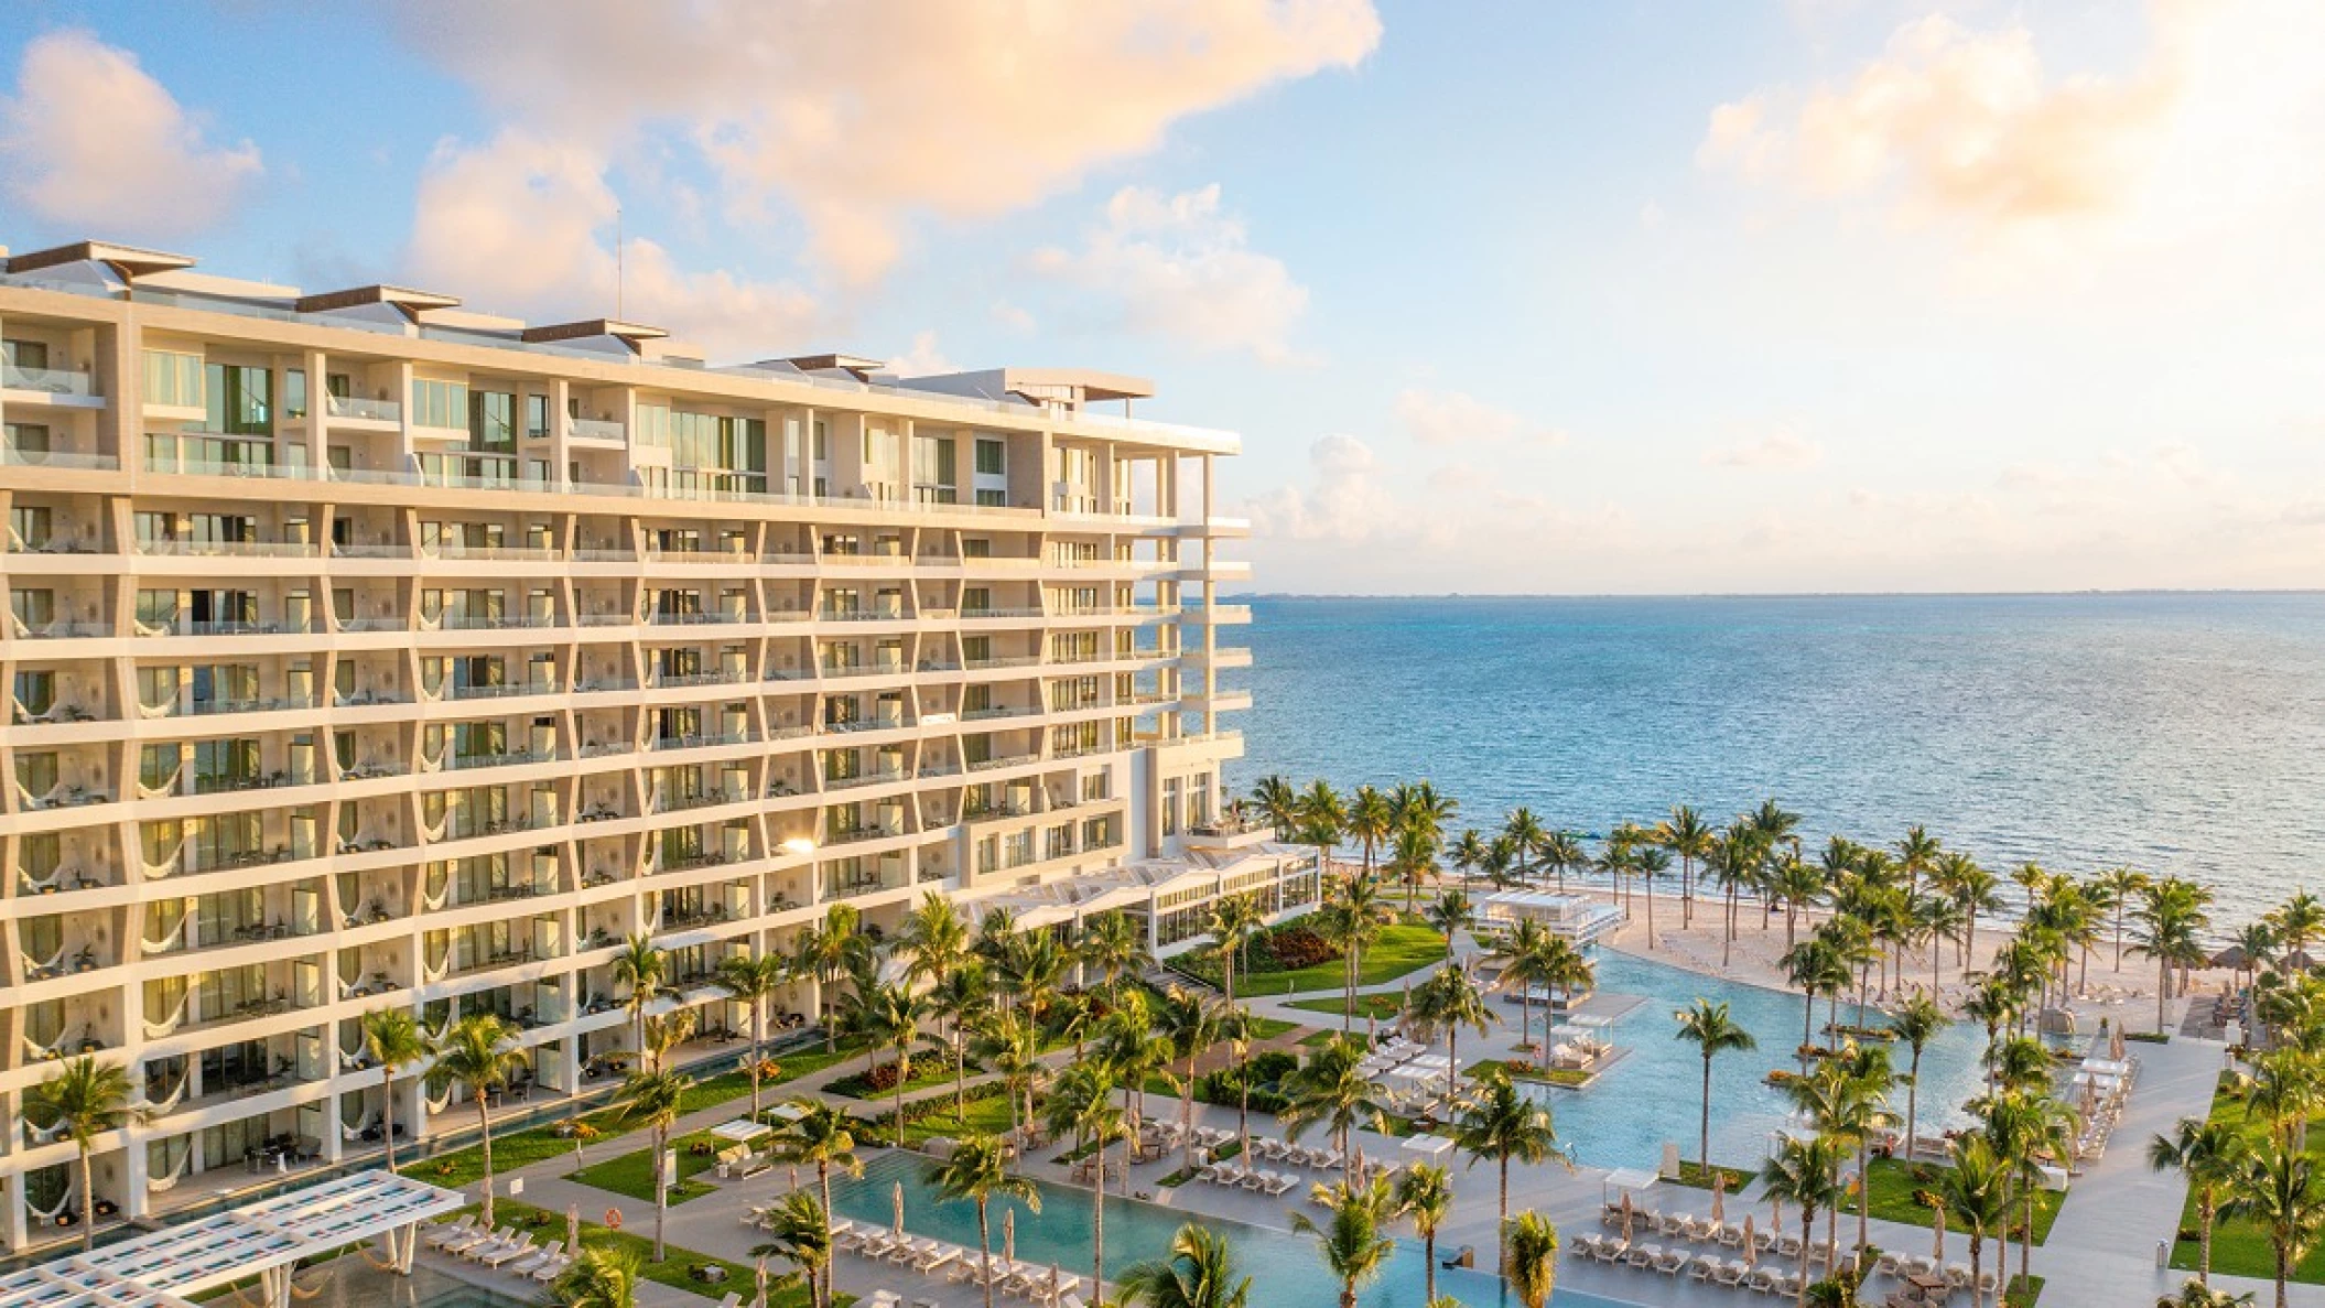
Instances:
[[[1367,987],[1372,992],[1393,992],[1400,983]],[[1621,1004],[1621,997],[1607,997],[1609,1004]],[[1283,1008],[1281,1004],[1269,1004],[1265,999],[1253,1004],[1256,1011],[1265,1015],[1281,1015],[1304,1025],[1330,1022],[1316,1013],[1304,1013],[1295,1008]],[[2092,1011],[2092,1018],[2102,1011]],[[1337,1022],[1335,1022],[1337,1027]],[[1516,1029],[1504,1027],[1488,1039],[1465,1039],[1462,1062],[1469,1064],[1479,1057],[1502,1057],[1509,1045],[1516,1043]],[[1063,1050],[1065,1057],[1072,1050]],[[2169,1045],[2134,1045],[2134,1055],[2141,1059],[2139,1085],[2123,1113],[2116,1129],[2113,1145],[2109,1152],[2090,1164],[2086,1176],[2081,1176],[2060,1210],[2060,1217],[2051,1231],[2048,1243],[2034,1250],[2034,1273],[2048,1278],[2051,1289],[2044,1294],[2044,1303],[2053,1306],[2134,1306],[2153,1303],[2160,1294],[2176,1292],[2188,1278],[2186,1271],[2160,1271],[2155,1266],[2155,1241],[2172,1238],[2183,1199],[2183,1185],[2176,1176],[2155,1173],[2146,1166],[2144,1145],[2148,1136],[2169,1129],[2179,1117],[2202,1115],[2211,1101],[2213,1080],[2225,1064],[2225,1045],[2218,1041],[2202,1041],[2188,1036],[2174,1036]],[[851,1069],[832,1069],[830,1073],[804,1078],[802,1083],[786,1085],[784,1097],[811,1092],[828,1076],[844,1076]],[[944,1090],[939,1090],[944,1092]],[[860,1101],[846,1101],[856,1111],[877,1111],[879,1106],[867,1106]],[[704,1113],[695,1113],[681,1120],[674,1134],[695,1131],[711,1127],[716,1122],[730,1120],[744,1113],[742,1104],[728,1104]],[[1149,1097],[1149,1117],[1179,1117],[1179,1104],[1174,1099],[1165,1101],[1160,1097]],[[1195,1120],[1207,1127],[1235,1129],[1232,1108],[1195,1106]],[[1274,1131],[1276,1122],[1267,1115],[1253,1115],[1253,1131]],[[1311,1134],[1309,1141],[1321,1136]],[[593,1145],[591,1157],[609,1157],[614,1152],[628,1152],[642,1148],[639,1141],[621,1141],[618,1145]],[[1390,1136],[1362,1136],[1362,1148],[1369,1159],[1409,1162],[1418,1155],[1402,1148],[1402,1141]],[[1683,1145],[1686,1148],[1686,1145]],[[865,1150],[867,1157],[879,1150]],[[1058,1150],[1037,1150],[1023,1166],[1028,1176],[1067,1185],[1067,1169],[1051,1162]],[[1116,1155],[1118,1157],[1118,1155]],[[1153,1194],[1156,1183],[1179,1166],[1179,1152],[1167,1157],[1137,1164],[1130,1171],[1128,1190],[1130,1194]],[[1460,1248],[1474,1245],[1479,1257],[1479,1269],[1490,1271],[1493,1248],[1495,1248],[1495,1169],[1493,1164],[1467,1166],[1462,1159],[1448,1159],[1455,1173],[1458,1199],[1453,1215],[1439,1234],[1439,1257]],[[635,1234],[651,1234],[653,1229],[653,1206],[639,1203],[635,1199],[623,1199],[607,1194],[602,1190],[563,1180],[560,1173],[572,1171],[572,1159],[551,1159],[537,1166],[523,1169],[516,1176],[525,1178],[523,1199],[551,1210],[560,1210],[567,1203],[579,1203],[581,1213],[595,1220],[604,1208],[618,1208],[623,1215],[623,1229]],[[1109,1169],[1111,1173],[1111,1169]],[[1309,1180],[1330,1180],[1328,1173],[1304,1173]],[[707,1176],[704,1176],[707,1178]],[[1511,1169],[1511,1210],[1535,1208],[1551,1217],[1567,1234],[1600,1231],[1600,1196],[1602,1196],[1604,1171],[1581,1169],[1565,1171],[1553,1164],[1541,1166],[1514,1166]],[[800,1176],[802,1183],[811,1185],[811,1173]],[[679,1203],[670,1208],[667,1238],[677,1248],[725,1257],[732,1262],[749,1264],[751,1245],[756,1234],[742,1224],[742,1210],[753,1203],[767,1203],[791,1187],[788,1169],[774,1169],[753,1180],[728,1180],[716,1183],[716,1192],[700,1196],[691,1203]],[[1118,1183],[1109,1176],[1109,1192],[1121,1194]],[[1651,1192],[1651,1203],[1662,1203],[1667,1208],[1686,1208],[1695,1213],[1707,1213],[1711,1206],[1709,1192],[1683,1190],[1674,1185],[1662,1185]],[[1176,1192],[1162,1196],[1162,1201],[1190,1217],[1209,1215],[1225,1217],[1235,1222],[1246,1222],[1256,1227],[1288,1229],[1290,1213],[1302,1206],[1304,1187],[1286,1196],[1262,1196],[1251,1192],[1230,1192],[1214,1185],[1186,1185]],[[1758,1210],[1765,1220],[1767,1208],[1755,1199],[1727,1196],[1730,1220],[1739,1220],[1746,1210]],[[1314,1210],[1311,1210],[1314,1213]],[[1797,1217],[1793,1222],[1797,1227]],[[1823,1224],[1823,1220],[1818,1222]],[[1841,1245],[1853,1243],[1853,1217],[1841,1220]],[[1895,1248],[1904,1252],[1930,1252],[1932,1234],[1923,1227],[1872,1222],[1872,1238],[1876,1245]],[[495,1278],[488,1271],[470,1269],[456,1259],[444,1259],[439,1255],[430,1257],[435,1266],[444,1266],[477,1280],[479,1285],[491,1285],[507,1289],[507,1278]],[[1969,1245],[1967,1236],[1960,1231],[1946,1238],[1948,1262],[1967,1262]],[[1990,1241],[1986,1250],[1988,1264],[1997,1257],[1997,1245]],[[2016,1269],[2016,1257],[2011,1262]],[[946,1285],[939,1280],[921,1278],[909,1269],[897,1269],[890,1264],[870,1264],[865,1259],[839,1255],[839,1289],[849,1294],[867,1294],[872,1289],[893,1289],[907,1303],[916,1299],[930,1299],[946,1308],[960,1308],[965,1303],[979,1303],[981,1296],[967,1285]],[[1067,1269],[1088,1275],[1088,1269]],[[1256,1271],[1256,1269],[1246,1269]],[[1621,1266],[1590,1264],[1574,1257],[1560,1259],[1558,1271],[1560,1287],[1576,1289],[1583,1294],[1595,1294],[1625,1303],[1641,1303],[1653,1308],[1695,1308],[1711,1303],[1772,1303],[1767,1296],[1748,1296],[1727,1287],[1709,1282],[1690,1282],[1667,1275],[1655,1275],[1648,1271],[1630,1271]],[[2269,1301],[2272,1287],[2262,1280],[2227,1278],[2216,1275],[2216,1285],[2244,1292],[2258,1292],[2260,1301]],[[721,1292],[728,1287],[721,1287]],[[749,1296],[749,1287],[735,1287]],[[1890,1282],[1874,1280],[1867,1285],[1869,1303],[1879,1303],[1890,1289]],[[642,1292],[644,1308],[702,1308],[714,1301],[698,1299],[686,1292],[677,1292],[660,1285],[649,1285]],[[2297,1301],[2325,1301],[2318,1296]],[[1969,1303],[1967,1294],[1955,1294],[1951,1303]]]

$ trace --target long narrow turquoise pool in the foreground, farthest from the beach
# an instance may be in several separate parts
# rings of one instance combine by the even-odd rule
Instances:
[[[921,1157],[877,1157],[865,1164],[863,1178],[832,1180],[832,1208],[844,1217],[886,1227],[895,1220],[895,1183],[902,1180],[904,1227],[909,1231],[974,1250],[977,1206],[939,1201],[925,1180],[928,1166],[928,1159]],[[1090,1192],[1046,1183],[1039,1183],[1039,1190],[1042,1213],[1030,1213],[1014,1201],[993,1203],[993,1252],[1002,1250],[1002,1210],[1009,1208],[1016,1210],[1016,1255],[1021,1262],[1056,1262],[1065,1271],[1088,1278]],[[1316,1243],[1304,1236],[1118,1196],[1107,1196],[1107,1275],[1121,1275],[1135,1262],[1167,1257],[1172,1234],[1190,1220],[1235,1241],[1242,1271],[1251,1278],[1251,1308],[1332,1308],[1339,1301],[1339,1285],[1316,1257]],[[1362,1308],[1414,1308],[1421,1303],[1425,1271],[1421,1245],[1402,1243],[1388,1273],[1372,1282],[1358,1303]],[[1516,1306],[1516,1299],[1504,1301],[1500,1278],[1479,1271],[1439,1269],[1437,1294],[1451,1294],[1467,1308]],[[1558,1308],[1621,1308],[1611,1299],[1567,1289],[1560,1289],[1553,1303]]]

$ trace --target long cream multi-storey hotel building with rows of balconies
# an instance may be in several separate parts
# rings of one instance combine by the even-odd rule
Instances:
[[[79,1234],[21,1099],[81,1052],[151,1111],[95,1150],[128,1220],[374,1155],[384,1004],[516,1022],[512,1113],[588,1090],[632,932],[658,1008],[749,1032],[718,960],[839,901],[1123,911],[1169,953],[1221,892],[1316,897],[1223,820],[1237,439],[1128,416],[1142,381],[709,367],[102,242],[7,258],[0,342],[9,1250]]]

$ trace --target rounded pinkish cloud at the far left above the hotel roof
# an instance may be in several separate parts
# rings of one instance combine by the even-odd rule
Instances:
[[[0,100],[0,188],[81,235],[200,232],[260,172],[258,146],[214,144],[202,116],[137,67],[137,56],[88,33],[28,42],[16,93]]]

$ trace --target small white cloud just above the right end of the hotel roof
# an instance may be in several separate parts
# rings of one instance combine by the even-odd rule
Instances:
[[[1128,330],[1297,360],[1286,337],[1307,288],[1281,260],[1246,249],[1244,225],[1221,211],[1218,184],[1179,195],[1125,186],[1079,251],[1049,246],[1028,263],[1086,290]]]

